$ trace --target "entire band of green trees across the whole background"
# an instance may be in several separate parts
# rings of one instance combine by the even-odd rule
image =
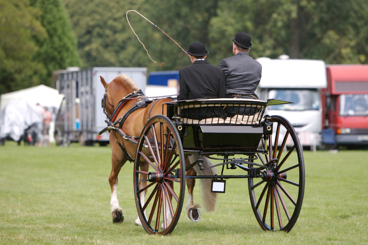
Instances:
[[[251,35],[253,58],[287,54],[326,64],[368,63],[367,0],[0,0],[0,14],[10,20],[4,25],[0,18],[0,34],[15,36],[0,39],[0,93],[48,84],[53,69],[67,66],[167,71],[191,64],[174,42],[130,12],[153,60],[164,62],[153,63],[128,25],[128,10],[150,19],[184,50],[204,43],[213,65],[233,55],[237,32]]]

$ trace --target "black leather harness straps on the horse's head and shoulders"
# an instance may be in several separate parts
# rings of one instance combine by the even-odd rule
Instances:
[[[108,85],[107,85],[108,86]],[[127,94],[126,96],[124,96],[119,103],[117,104],[116,108],[109,102],[109,98],[107,97],[107,86],[105,88],[105,94],[103,95],[102,101],[101,101],[101,106],[103,108],[103,113],[105,113],[107,120],[105,120],[105,122],[107,123],[107,125],[109,125],[108,127],[106,127],[105,129],[103,129],[100,133],[98,133],[98,135],[108,131],[108,130],[113,130],[113,131],[117,131],[125,140],[139,140],[139,136],[128,136],[127,134],[124,133],[124,131],[122,130],[118,130],[121,129],[123,127],[123,124],[125,122],[125,120],[128,118],[128,116],[134,112],[137,111],[138,109],[142,109],[145,107],[148,107],[149,104],[151,104],[153,102],[153,106],[151,108],[151,110],[149,111],[148,114],[148,120],[151,117],[151,111],[153,109],[153,107],[155,106],[155,104],[162,99],[158,99],[158,100],[147,100],[146,98],[139,98],[139,97],[144,97],[144,93],[142,92],[142,90],[138,90],[138,91],[133,91],[130,94]],[[138,97],[138,102],[135,103],[130,109],[128,109],[127,112],[125,112],[125,114],[119,118],[118,120],[115,121],[117,115],[119,114],[119,112],[121,111],[121,109],[123,109],[124,105],[127,104],[127,102],[135,97]],[[110,106],[112,106],[114,108],[114,112],[113,114],[109,117],[109,115],[106,112],[106,101],[107,103],[109,103]],[[118,126],[117,126],[118,124]],[[115,138],[116,138],[116,142],[117,144],[120,146],[120,148],[123,150],[124,154],[127,156],[128,161],[133,162],[134,158],[132,158],[129,153],[127,152],[127,150],[124,147],[124,144],[120,143],[118,141],[118,138],[115,134],[115,132],[113,132]]]

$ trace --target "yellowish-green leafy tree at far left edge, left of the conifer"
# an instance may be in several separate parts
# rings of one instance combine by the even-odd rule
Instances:
[[[32,36],[46,37],[39,14],[27,0],[0,0],[0,94],[35,86],[46,73],[33,60],[38,47]]]

